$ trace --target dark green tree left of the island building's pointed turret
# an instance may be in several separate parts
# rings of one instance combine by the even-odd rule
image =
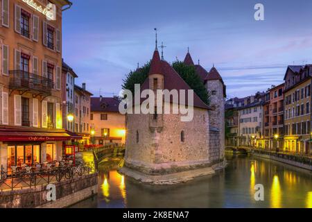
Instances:
[[[142,85],[146,78],[148,77],[148,71],[150,71],[150,62],[147,62],[143,67],[137,69],[136,71],[130,71],[130,73],[125,76],[123,80],[123,89],[128,89],[135,94],[135,84]]]

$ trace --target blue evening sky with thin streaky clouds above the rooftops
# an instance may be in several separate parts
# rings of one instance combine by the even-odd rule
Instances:
[[[265,21],[254,20],[263,3]],[[227,96],[283,82],[287,65],[312,63],[312,1],[73,0],[63,13],[63,58],[94,96],[119,94],[122,79],[164,42],[164,58],[214,63]]]

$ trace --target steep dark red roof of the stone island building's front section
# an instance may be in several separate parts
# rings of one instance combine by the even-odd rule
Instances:
[[[158,52],[157,52],[157,54],[158,54]],[[155,56],[155,52],[154,52],[154,56]],[[154,60],[154,56],[153,56],[153,60]],[[153,60],[151,62],[151,65],[153,64]],[[152,67],[150,69],[152,69]],[[160,74],[164,75],[164,89],[168,89],[169,91],[171,91],[172,89],[177,89],[177,90],[185,89],[186,90],[185,102],[187,103],[188,102],[187,90],[191,89],[191,87],[189,87],[189,85],[187,85],[187,83],[183,80],[183,78],[179,74],[177,74],[175,69],[173,69],[173,67],[170,64],[168,64],[168,62],[161,60],[160,63],[157,64],[157,69],[159,69]],[[144,89],[148,89],[148,88],[149,88],[149,83],[148,83],[148,78],[146,78],[143,85],[141,86],[141,91]],[[141,99],[141,101],[144,101],[144,100],[145,99]],[[200,99],[200,97],[197,94],[195,94],[195,92],[193,94],[193,103],[194,103],[193,106],[196,108],[202,108],[202,109],[209,110],[208,105],[206,105]]]

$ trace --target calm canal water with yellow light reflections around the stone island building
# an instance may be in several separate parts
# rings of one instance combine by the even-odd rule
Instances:
[[[171,186],[143,185],[119,174],[123,160],[107,159],[98,176],[98,195],[72,207],[312,207],[312,173],[271,160],[228,155],[214,176]],[[255,185],[264,188],[256,201]]]

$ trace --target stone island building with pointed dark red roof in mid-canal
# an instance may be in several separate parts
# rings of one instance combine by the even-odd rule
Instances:
[[[189,53],[185,62],[193,65]],[[200,65],[196,66],[196,70],[201,72],[201,79],[206,83],[205,79],[209,78],[208,72]],[[212,82],[208,79],[209,87],[210,83]],[[179,91],[191,88],[168,62],[160,60],[156,48],[150,62],[148,78],[141,85],[141,92],[144,89],[156,92],[157,89]],[[214,90],[218,91],[217,88]],[[155,98],[155,101],[157,99],[163,101],[160,110],[164,111],[164,105],[169,105],[172,110],[175,105],[171,97],[164,99],[162,96]],[[132,103],[132,106],[128,105],[127,108],[135,110],[141,103]],[[222,131],[217,128],[220,125],[211,127],[209,110],[211,109],[207,104],[194,93],[191,121],[181,121],[182,114],[128,113],[125,162],[121,173],[142,182],[152,183],[181,182],[214,173],[215,167],[223,166],[224,151],[221,149],[224,146],[220,146]],[[220,112],[222,110],[218,111],[219,114]],[[215,115],[214,110],[211,110],[211,115]],[[216,118],[218,117],[214,117]]]

